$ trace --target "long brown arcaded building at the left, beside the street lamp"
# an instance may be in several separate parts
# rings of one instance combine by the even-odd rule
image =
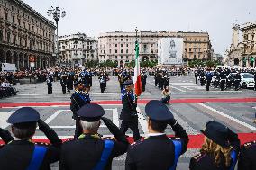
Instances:
[[[54,66],[55,29],[23,1],[0,0],[0,63],[14,63],[18,70]]]

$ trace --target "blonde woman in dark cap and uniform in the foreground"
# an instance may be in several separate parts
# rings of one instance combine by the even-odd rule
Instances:
[[[236,133],[216,121],[201,130],[206,136],[197,156],[190,160],[190,170],[233,170],[237,162],[240,140]]]

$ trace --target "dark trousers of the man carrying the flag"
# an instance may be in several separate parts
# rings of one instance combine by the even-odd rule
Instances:
[[[133,121],[122,121],[120,130],[123,132],[124,135],[128,128],[133,131],[134,141],[141,139],[138,128],[138,119],[134,119]]]

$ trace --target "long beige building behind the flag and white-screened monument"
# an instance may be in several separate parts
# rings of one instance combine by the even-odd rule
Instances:
[[[140,58],[156,60],[158,40],[161,38],[183,38],[183,61],[192,59],[211,59],[211,42],[207,32],[139,31]],[[100,34],[98,38],[98,58],[100,62],[108,59],[123,67],[134,59],[136,32],[114,31]]]

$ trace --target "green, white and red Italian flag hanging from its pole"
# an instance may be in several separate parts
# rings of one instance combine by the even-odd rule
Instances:
[[[136,96],[140,96],[142,94],[142,80],[141,80],[141,67],[140,67],[140,58],[139,58],[139,43],[138,40],[135,42],[135,67],[134,67],[134,91]]]

